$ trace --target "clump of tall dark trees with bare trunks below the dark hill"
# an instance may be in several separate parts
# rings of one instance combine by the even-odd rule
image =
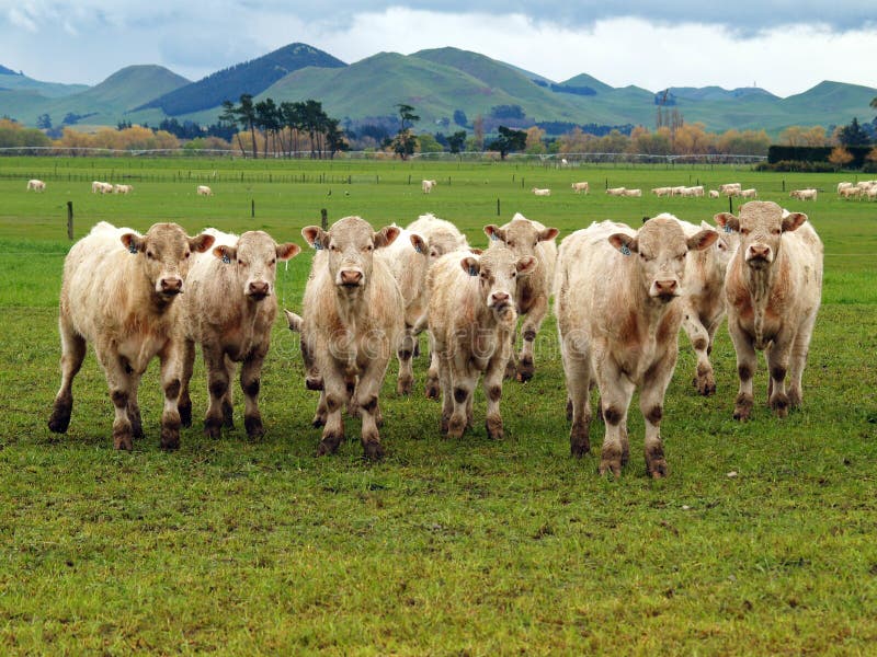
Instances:
[[[308,137],[311,158],[329,158],[349,148],[340,120],[331,118],[318,101],[286,102],[277,105],[273,99],[253,102],[253,96],[244,93],[240,103],[223,103],[220,122],[238,125],[250,135],[253,159],[259,157],[257,131],[264,136],[263,154],[285,157],[297,155],[301,136]],[[241,152],[247,152],[241,141],[241,132],[235,135]]]

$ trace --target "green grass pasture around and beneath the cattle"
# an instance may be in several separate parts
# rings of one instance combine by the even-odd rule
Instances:
[[[30,177],[46,192],[25,192]],[[438,182],[431,195],[421,178]],[[93,195],[92,180],[134,192]],[[590,195],[570,189],[580,180]],[[874,654],[877,204],[839,200],[841,180],[854,177],[514,161],[0,159],[0,653]],[[636,397],[619,480],[596,474],[599,422],[597,453],[570,458],[553,319],[537,338],[534,379],[504,385],[502,441],[487,438],[480,390],[475,429],[440,438],[421,356],[410,399],[396,394],[390,366],[384,461],[363,462],[353,420],[338,454],[315,458],[317,397],[282,315],[260,440],[246,437],[239,391],[238,428],[203,436],[201,357],[194,423],[178,452],[158,448],[155,365],[140,388],[147,437],[130,453],[113,450],[93,353],[68,434],[46,427],[59,382],[67,201],[76,238],[99,220],[138,230],[172,220],[191,234],[259,228],[304,245],[300,229],[326,208],[330,221],[357,214],[375,227],[432,211],[483,245],[481,227],[515,211],[558,227],[560,239],[593,220],[638,226],[660,211],[711,222],[727,199],[648,194],[698,182],[741,182],[808,212],[825,244],[823,306],[804,406],[783,420],[763,403],[763,366],[753,419],[731,418],[725,326],[711,397],[692,387],[694,353],[681,336],[661,431],[664,481],[646,475]],[[196,196],[196,184],[215,195]],[[643,196],[607,197],[606,184]],[[551,196],[534,197],[534,186]],[[788,191],[805,186],[820,188],[819,200],[791,204]],[[278,269],[282,306],[300,310],[310,254]]]

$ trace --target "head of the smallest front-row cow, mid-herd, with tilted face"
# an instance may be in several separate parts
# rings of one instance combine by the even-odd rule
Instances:
[[[485,306],[502,322],[513,325],[517,320],[514,297],[519,277],[533,273],[536,258],[532,255],[519,257],[509,249],[488,249],[481,255],[464,256],[459,264],[469,276],[478,277]]]

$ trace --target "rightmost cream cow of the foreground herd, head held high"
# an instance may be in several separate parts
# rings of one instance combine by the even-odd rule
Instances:
[[[740,233],[725,277],[740,379],[733,417],[751,415],[756,349],[764,351],[770,372],[768,404],[785,417],[802,401],[801,377],[822,296],[822,242],[807,215],[775,203],[750,201],[739,212],[715,217],[718,226]]]

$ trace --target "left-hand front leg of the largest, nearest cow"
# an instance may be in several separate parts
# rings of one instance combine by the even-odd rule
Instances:
[[[595,369],[603,420],[606,423],[606,434],[600,453],[600,474],[608,471],[618,477],[630,452],[627,410],[630,407],[635,385],[627,377],[622,376],[614,364],[604,362]]]

